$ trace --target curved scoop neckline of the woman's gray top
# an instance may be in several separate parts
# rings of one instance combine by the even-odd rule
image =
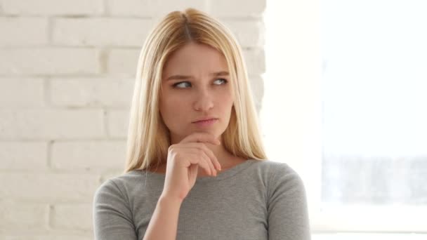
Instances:
[[[216,177],[211,177],[211,176],[202,176],[202,177],[198,177],[195,185],[197,183],[202,183],[202,182],[213,182],[213,181],[219,181],[219,180],[223,180],[225,178],[230,178],[231,176],[235,175],[236,173],[239,173],[240,171],[248,168],[249,166],[251,166],[252,164],[254,164],[254,162],[259,161],[256,159],[247,159],[246,161],[244,161],[242,164],[237,164],[236,166],[233,166],[232,168],[228,168],[227,170],[221,171],[218,173],[218,175],[216,175]],[[142,173],[145,173],[146,175],[150,175],[153,178],[157,178],[160,180],[164,180],[164,178],[166,177],[165,173],[155,173],[152,171],[141,171]]]

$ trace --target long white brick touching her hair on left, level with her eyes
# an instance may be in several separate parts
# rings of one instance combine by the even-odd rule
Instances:
[[[52,79],[53,105],[129,107],[135,79]]]

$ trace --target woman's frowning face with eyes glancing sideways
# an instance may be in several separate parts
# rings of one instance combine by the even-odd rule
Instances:
[[[220,139],[230,121],[230,84],[225,57],[215,48],[190,43],[170,56],[162,72],[159,110],[172,144],[195,132]],[[216,120],[195,123],[206,118]]]

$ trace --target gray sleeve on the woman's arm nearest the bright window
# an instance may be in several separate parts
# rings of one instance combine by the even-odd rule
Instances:
[[[306,189],[287,164],[275,166],[268,189],[268,239],[309,240]]]

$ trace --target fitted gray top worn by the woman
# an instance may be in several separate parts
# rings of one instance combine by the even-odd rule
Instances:
[[[95,239],[142,240],[164,178],[130,171],[98,187]],[[176,239],[310,239],[303,182],[287,164],[255,159],[199,177],[180,206]]]

